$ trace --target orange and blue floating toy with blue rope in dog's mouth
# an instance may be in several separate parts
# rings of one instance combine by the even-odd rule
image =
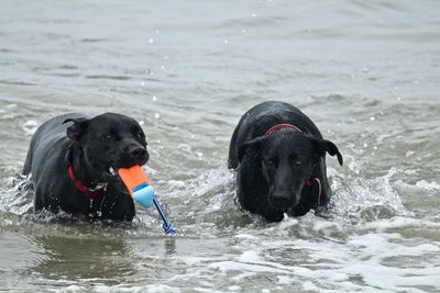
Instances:
[[[172,223],[166,219],[161,206],[154,199],[153,184],[142,170],[141,166],[135,165],[130,168],[120,168],[118,173],[133,200],[144,207],[150,207],[152,204],[154,204],[160,216],[162,217],[162,221],[164,222],[163,228],[165,234],[174,234],[175,229],[173,228]]]

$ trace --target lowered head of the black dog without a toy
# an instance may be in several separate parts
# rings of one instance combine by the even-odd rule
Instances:
[[[298,204],[306,180],[326,153],[337,155],[342,165],[342,156],[332,142],[297,129],[279,129],[246,142],[239,149],[239,160],[254,161],[257,176],[268,189],[264,195],[267,207],[287,212]]]

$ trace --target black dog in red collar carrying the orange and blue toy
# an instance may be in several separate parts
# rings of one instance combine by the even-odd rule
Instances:
[[[36,129],[23,174],[31,174],[35,212],[132,221],[133,200],[117,170],[147,160],[145,135],[133,119],[114,113],[94,119],[66,114]]]

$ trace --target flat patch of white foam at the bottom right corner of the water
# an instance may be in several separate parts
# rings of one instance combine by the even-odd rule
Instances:
[[[239,230],[229,251],[210,258],[178,255],[173,262],[191,270],[168,283],[199,280],[248,291],[274,286],[296,292],[323,290],[354,291],[435,291],[439,289],[436,267],[440,244],[411,245],[398,234],[366,233],[351,235],[346,241],[319,238],[276,237]],[[406,258],[421,262],[399,262]],[[417,263],[417,264],[416,264]],[[258,280],[250,282],[250,280]]]

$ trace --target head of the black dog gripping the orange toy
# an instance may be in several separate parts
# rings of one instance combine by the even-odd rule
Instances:
[[[114,177],[119,168],[148,160],[145,134],[125,115],[105,113],[92,119],[68,119],[67,136],[76,142],[82,167],[100,181]]]

